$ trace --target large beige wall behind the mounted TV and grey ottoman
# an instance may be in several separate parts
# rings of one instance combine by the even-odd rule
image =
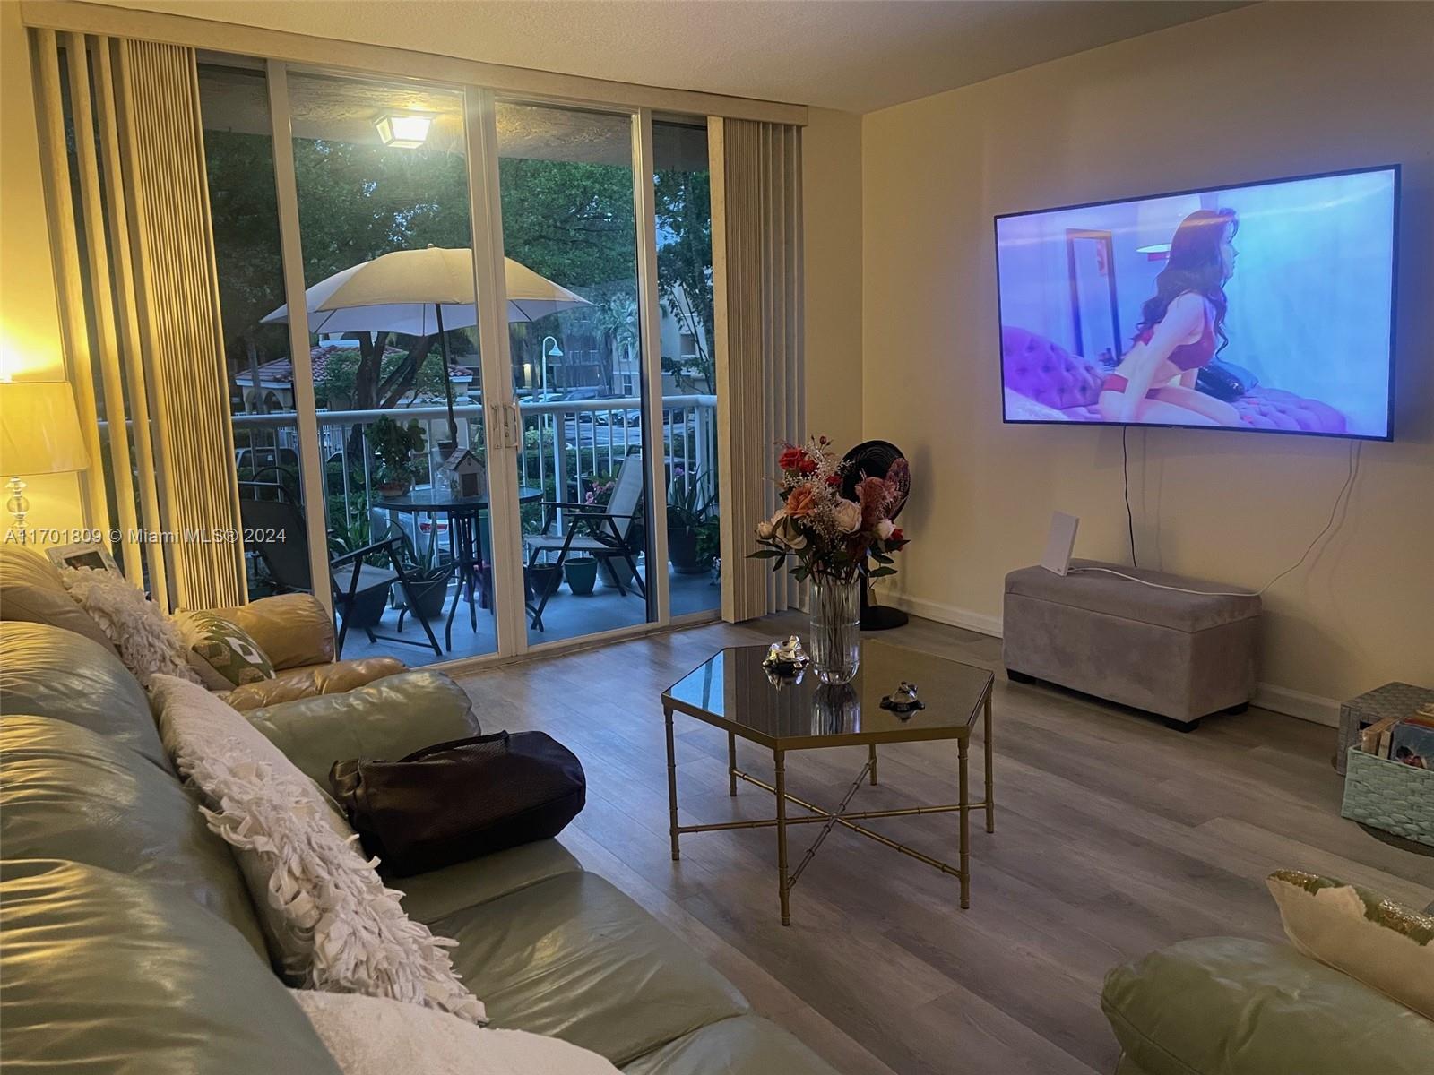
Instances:
[[[1081,516],[1077,555],[1126,559],[1120,430],[1001,424],[994,214],[1392,161],[1398,440],[1364,444],[1332,539],[1266,595],[1262,679],[1324,717],[1319,699],[1434,682],[1430,4],[1260,4],[865,118],[863,426],[912,457],[911,606],[998,626],[1053,509]],[[1182,430],[1130,446],[1141,563],[1250,588],[1325,525],[1349,454]]]

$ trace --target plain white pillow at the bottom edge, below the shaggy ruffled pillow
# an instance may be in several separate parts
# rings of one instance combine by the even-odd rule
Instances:
[[[525,1031],[470,1026],[394,1000],[291,990],[344,1075],[617,1075],[588,1049]]]

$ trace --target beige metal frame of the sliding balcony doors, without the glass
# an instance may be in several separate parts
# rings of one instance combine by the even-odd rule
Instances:
[[[308,538],[311,578],[328,578],[328,526],[324,505],[324,464],[320,450],[318,413],[310,357],[308,314],[304,302],[304,258],[298,221],[298,188],[294,172],[293,125],[288,105],[288,72],[284,60],[265,60],[270,125],[274,142],[274,181],[280,218],[280,247],[284,267],[284,301],[288,304],[290,353],[294,370],[294,410],[300,443],[300,473],[304,492],[304,522]],[[469,219],[472,229],[473,281],[478,301],[479,360],[483,384],[485,443],[490,492],[490,540],[493,549],[493,603],[498,631],[495,654],[456,656],[435,662],[450,668],[479,668],[528,654],[558,652],[594,642],[618,641],[663,631],[673,615],[667,570],[667,483],[663,440],[661,307],[657,285],[657,214],[652,166],[652,110],[602,100],[575,100],[541,95],[496,93],[473,85],[442,79],[374,76],[341,67],[293,64],[295,72],[323,72],[344,77],[413,82],[463,95]],[[522,416],[513,394],[508,337],[508,294],[503,272],[503,225],[498,172],[496,103],[579,108],[628,116],[632,132],[632,189],[637,231],[638,338],[642,355],[642,413],[648,450],[647,469],[647,622],[578,638],[532,644],[526,629],[523,586],[523,539],[519,512],[518,454],[522,450]],[[720,386],[718,386],[720,390]],[[726,583],[724,583],[726,585]],[[314,596],[333,615],[328,586],[315,585]],[[683,624],[717,619],[720,613],[681,616]]]

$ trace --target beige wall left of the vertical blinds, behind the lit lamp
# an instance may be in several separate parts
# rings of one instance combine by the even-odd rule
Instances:
[[[20,7],[0,1],[0,376],[60,380],[60,322],[40,186],[30,52]],[[9,479],[9,474],[0,480]],[[82,526],[75,474],[26,477],[27,526]],[[9,530],[10,516],[0,519]],[[65,542],[60,542],[65,543]]]

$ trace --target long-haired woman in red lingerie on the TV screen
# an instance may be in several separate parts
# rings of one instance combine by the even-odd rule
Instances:
[[[1200,370],[1229,343],[1225,282],[1235,272],[1236,231],[1233,209],[1196,209],[1180,221],[1156,294],[1140,310],[1134,344],[1100,386],[1097,406],[1106,421],[1240,424],[1235,407],[1195,387]]]

